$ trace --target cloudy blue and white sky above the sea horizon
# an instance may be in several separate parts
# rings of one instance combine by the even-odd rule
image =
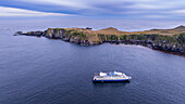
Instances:
[[[185,0],[0,0],[0,17],[185,18]]]

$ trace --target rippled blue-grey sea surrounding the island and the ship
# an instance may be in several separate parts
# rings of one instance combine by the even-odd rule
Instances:
[[[13,36],[48,27],[173,28],[182,20],[0,20],[0,104],[185,104],[185,57],[139,46],[81,47]],[[92,83],[97,72],[130,82]]]

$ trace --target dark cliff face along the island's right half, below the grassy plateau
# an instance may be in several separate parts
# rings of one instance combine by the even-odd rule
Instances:
[[[185,34],[161,35],[99,35],[102,42],[140,44],[156,50],[185,53]]]

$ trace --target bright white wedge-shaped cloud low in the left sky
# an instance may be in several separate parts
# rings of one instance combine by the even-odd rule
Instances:
[[[62,13],[47,13],[5,6],[0,6],[0,16],[70,16]]]

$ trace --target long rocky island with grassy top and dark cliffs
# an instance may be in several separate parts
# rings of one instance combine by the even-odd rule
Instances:
[[[114,27],[99,30],[92,30],[90,27],[48,28],[45,31],[16,31],[14,36],[17,35],[60,39],[81,46],[97,46],[106,42],[139,44],[153,50],[185,56],[185,26],[144,31],[122,31]]]

